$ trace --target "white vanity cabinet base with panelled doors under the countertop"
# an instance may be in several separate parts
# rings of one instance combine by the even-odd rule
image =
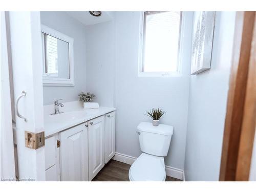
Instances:
[[[46,181],[91,181],[115,155],[115,117],[107,111],[47,136]]]

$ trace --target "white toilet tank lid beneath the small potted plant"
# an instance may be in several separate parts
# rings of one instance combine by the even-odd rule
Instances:
[[[138,125],[138,130],[143,132],[156,133],[161,135],[173,135],[173,126],[166,124],[159,124],[158,126],[154,126],[152,122],[141,122]]]

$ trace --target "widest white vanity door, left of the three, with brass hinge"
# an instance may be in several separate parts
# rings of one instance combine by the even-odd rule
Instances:
[[[61,181],[88,181],[88,130],[82,123],[60,132]]]

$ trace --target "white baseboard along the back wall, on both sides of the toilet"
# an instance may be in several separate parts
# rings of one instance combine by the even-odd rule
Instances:
[[[137,158],[129,155],[124,155],[121,153],[115,153],[115,156],[112,159],[131,165]],[[185,175],[182,169],[165,166],[165,172],[166,175],[169,177],[174,177],[176,179],[180,179],[183,181],[185,179]]]

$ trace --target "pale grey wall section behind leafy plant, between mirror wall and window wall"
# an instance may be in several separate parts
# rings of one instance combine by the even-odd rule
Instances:
[[[87,91],[100,106],[114,106],[115,22],[86,26]]]

